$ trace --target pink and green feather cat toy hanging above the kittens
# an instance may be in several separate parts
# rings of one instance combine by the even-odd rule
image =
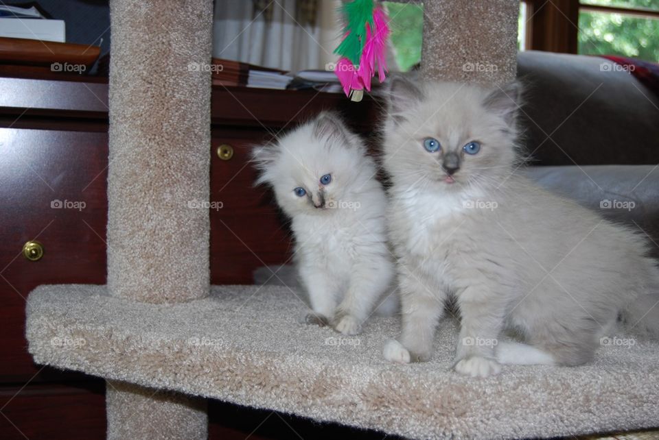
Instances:
[[[341,58],[336,76],[343,91],[352,101],[361,101],[364,89],[371,91],[371,78],[378,69],[378,80],[384,81],[386,40],[389,25],[382,6],[373,0],[354,0],[341,7],[345,18],[344,36],[334,50]]]

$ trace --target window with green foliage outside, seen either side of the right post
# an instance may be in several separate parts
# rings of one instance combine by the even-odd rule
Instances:
[[[423,6],[382,2],[401,71],[421,60]],[[522,0],[518,49],[659,62],[659,0]]]

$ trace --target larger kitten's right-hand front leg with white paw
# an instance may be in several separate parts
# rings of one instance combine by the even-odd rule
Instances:
[[[501,371],[494,349],[503,326],[505,302],[468,287],[458,295],[461,328],[453,369],[465,376],[492,376]]]

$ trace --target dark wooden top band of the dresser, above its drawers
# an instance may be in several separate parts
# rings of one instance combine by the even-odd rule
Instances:
[[[373,106],[372,101],[367,96],[354,103],[342,93],[316,90],[264,92],[261,88],[213,86],[211,123],[267,130],[289,126],[333,108],[345,112],[354,127],[369,127],[374,112],[383,105]],[[16,118],[41,117],[107,121],[108,84],[0,77],[0,125],[13,126]]]

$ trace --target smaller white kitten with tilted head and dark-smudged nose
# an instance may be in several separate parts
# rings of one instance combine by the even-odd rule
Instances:
[[[393,313],[386,197],[360,138],[323,112],[277,145],[255,149],[253,160],[257,183],[273,187],[292,219],[294,260],[314,310],[307,321],[358,334],[381,302]]]

